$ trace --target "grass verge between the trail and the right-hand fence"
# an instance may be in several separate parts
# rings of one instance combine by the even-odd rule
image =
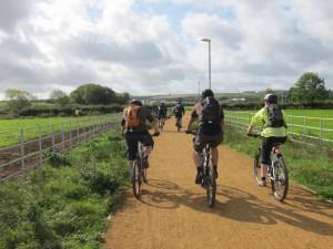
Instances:
[[[260,139],[246,137],[245,131],[240,133],[240,129],[226,126],[224,143],[253,156],[261,142]],[[290,177],[319,193],[324,198],[333,200],[332,149],[325,147],[304,147],[303,145],[290,142],[283,145],[282,148]]]

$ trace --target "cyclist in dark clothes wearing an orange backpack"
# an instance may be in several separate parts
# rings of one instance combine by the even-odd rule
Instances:
[[[148,157],[153,148],[154,142],[149,127],[145,122],[149,121],[154,129],[154,135],[159,135],[159,128],[151,114],[151,112],[142,106],[140,101],[133,100],[123,110],[123,118],[121,121],[121,133],[125,138],[128,147],[128,165],[130,173],[132,173],[133,162],[135,160],[138,142],[140,141],[144,146],[144,162],[143,166],[149,167]]]

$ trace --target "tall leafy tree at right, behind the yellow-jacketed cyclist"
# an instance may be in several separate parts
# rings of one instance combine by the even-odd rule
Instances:
[[[325,89],[325,80],[316,73],[304,73],[289,91],[289,97],[302,103],[313,104],[323,102],[330,96]]]

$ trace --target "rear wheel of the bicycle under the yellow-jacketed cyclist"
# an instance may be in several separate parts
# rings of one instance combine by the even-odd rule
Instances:
[[[289,178],[287,169],[282,156],[279,156],[273,162],[273,168],[271,174],[271,186],[275,199],[283,201],[287,194]]]

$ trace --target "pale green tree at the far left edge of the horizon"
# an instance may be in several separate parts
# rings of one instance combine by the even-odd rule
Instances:
[[[31,101],[36,100],[36,97],[24,90],[8,89],[6,90],[6,100],[8,101],[11,115],[17,115],[20,110],[30,106]]]

